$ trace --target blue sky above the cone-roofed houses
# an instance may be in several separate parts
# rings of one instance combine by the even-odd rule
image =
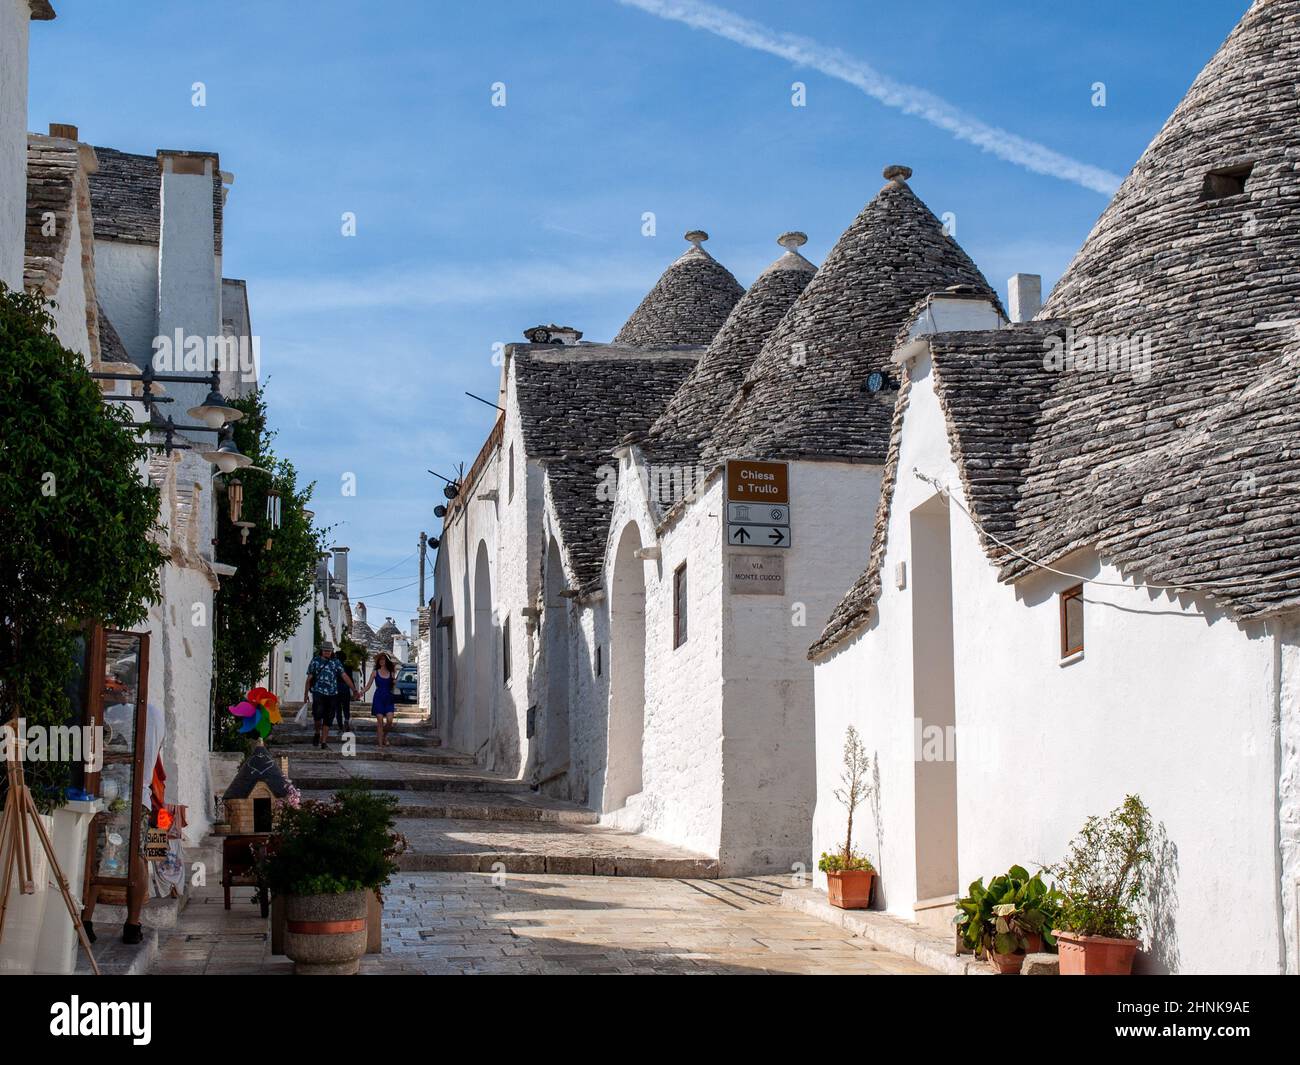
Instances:
[[[354,601],[404,624],[416,540],[438,525],[441,482],[425,469],[477,453],[493,411],[463,393],[493,394],[493,343],[549,321],[608,339],[686,229],[708,230],[749,283],[786,229],[807,231],[820,261],[881,166],[904,163],[993,285],[1005,293],[1017,270],[1057,280],[1106,195],[881,103],[832,75],[845,64],[902,83],[914,108],[916,91],[933,94],[1122,176],[1248,4],[716,5],[757,23],[738,33],[686,0],[55,7],[57,21],[32,25],[31,129],[220,152],[235,174],[225,273],[248,281],[278,449],[352,549]],[[762,51],[770,34],[803,39],[789,47],[814,65]]]

